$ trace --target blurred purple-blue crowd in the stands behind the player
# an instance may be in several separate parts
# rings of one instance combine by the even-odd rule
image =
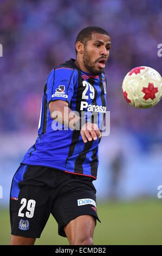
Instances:
[[[75,58],[75,38],[87,26],[105,28],[112,38],[106,68],[111,129],[133,133],[144,148],[159,142],[162,100],[135,109],[124,100],[121,85],[135,66],[162,74],[161,0],[1,0],[1,131],[36,129],[47,76],[55,65]]]

